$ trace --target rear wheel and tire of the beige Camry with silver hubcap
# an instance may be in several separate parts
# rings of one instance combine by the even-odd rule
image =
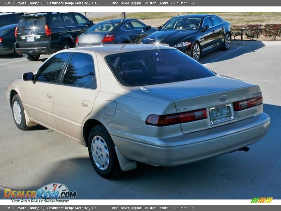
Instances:
[[[122,173],[114,143],[103,125],[97,125],[90,131],[88,151],[92,165],[100,176],[114,178]]]

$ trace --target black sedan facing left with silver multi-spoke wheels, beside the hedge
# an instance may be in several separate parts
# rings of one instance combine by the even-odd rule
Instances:
[[[210,51],[228,50],[230,41],[230,23],[216,15],[193,14],[170,19],[142,43],[172,46],[198,61]]]

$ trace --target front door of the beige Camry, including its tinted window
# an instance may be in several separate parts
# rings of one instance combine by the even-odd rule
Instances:
[[[43,126],[58,129],[53,110],[54,91],[61,70],[71,53],[60,53],[49,58],[36,72],[35,81],[26,84],[25,103],[29,117]]]

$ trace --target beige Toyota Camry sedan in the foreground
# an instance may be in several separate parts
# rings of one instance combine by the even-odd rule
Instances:
[[[62,50],[6,96],[20,130],[40,124],[72,137],[103,177],[136,161],[177,166],[244,149],[270,125],[259,86],[167,46]]]

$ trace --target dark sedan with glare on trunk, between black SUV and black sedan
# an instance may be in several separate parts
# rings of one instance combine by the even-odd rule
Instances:
[[[136,19],[113,19],[93,25],[76,39],[81,45],[103,45],[113,43],[140,43],[147,35],[157,31]]]

